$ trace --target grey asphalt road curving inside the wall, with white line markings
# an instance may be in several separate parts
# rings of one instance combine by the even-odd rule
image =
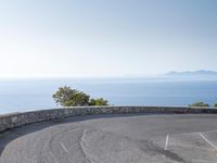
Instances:
[[[0,163],[216,163],[217,115],[90,115],[0,135]]]

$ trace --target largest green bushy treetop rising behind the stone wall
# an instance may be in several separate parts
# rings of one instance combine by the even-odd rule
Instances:
[[[56,104],[63,106],[108,105],[108,101],[103,98],[90,99],[87,93],[66,86],[60,87],[53,99]]]

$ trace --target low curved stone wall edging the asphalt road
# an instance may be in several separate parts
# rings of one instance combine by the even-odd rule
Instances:
[[[0,131],[14,127],[56,118],[91,114],[125,113],[217,113],[216,109],[171,108],[171,106],[82,106],[14,113],[0,116]]]

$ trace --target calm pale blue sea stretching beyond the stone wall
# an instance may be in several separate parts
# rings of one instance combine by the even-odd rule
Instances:
[[[0,114],[56,106],[52,95],[71,86],[115,105],[188,105],[217,102],[217,80],[175,82],[162,79],[26,79],[0,80]]]

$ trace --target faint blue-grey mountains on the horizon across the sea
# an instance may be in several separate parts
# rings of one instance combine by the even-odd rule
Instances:
[[[195,72],[169,72],[166,74],[166,76],[192,76],[192,77],[197,77],[197,76],[216,76],[217,77],[217,72],[214,71],[195,71]]]

